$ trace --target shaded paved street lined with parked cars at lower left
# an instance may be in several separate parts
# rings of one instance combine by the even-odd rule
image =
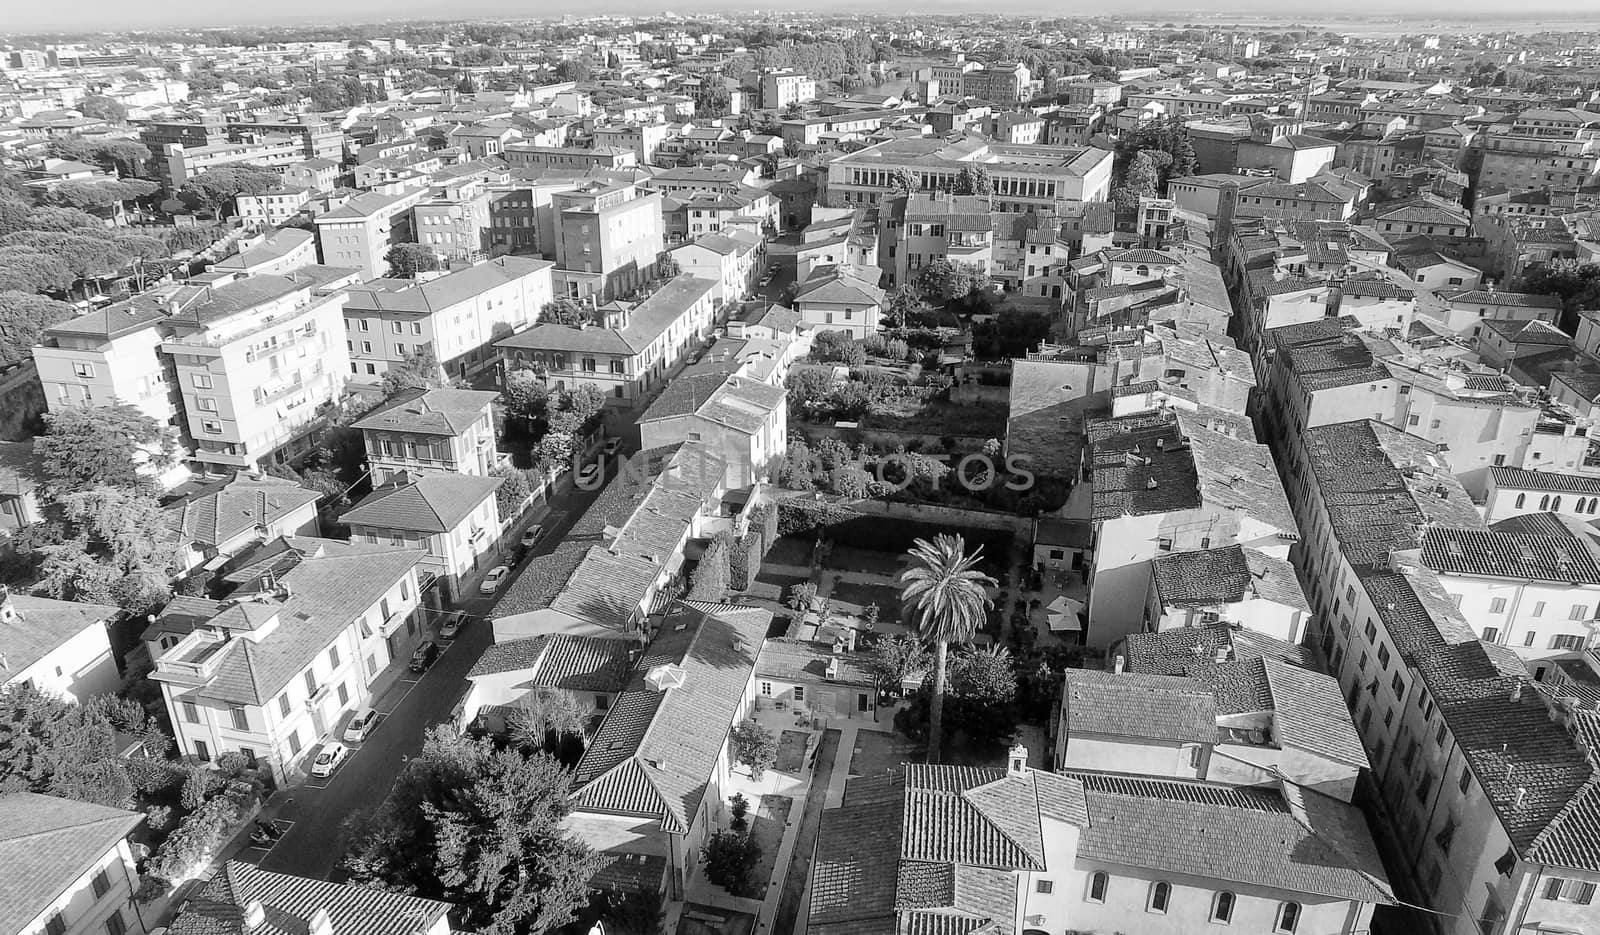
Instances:
[[[598,495],[598,490],[566,490],[554,496],[550,516],[544,520],[546,536],[534,554],[554,549]],[[517,568],[520,570],[522,567]],[[493,602],[493,597],[474,594],[458,607],[474,618],[472,623],[446,645],[427,672],[421,677],[408,672],[376,703],[384,719],[365,743],[352,749],[330,780],[310,780],[274,799],[267,813],[280,826],[288,821],[293,825],[288,825],[288,833],[270,850],[246,847],[238,860],[306,877],[344,877],[339,871],[346,845],[344,820],[376,809],[389,794],[405,760],[422,749],[427,728],[450,720],[456,703],[467,692],[467,672],[494,642],[493,628],[483,621]]]

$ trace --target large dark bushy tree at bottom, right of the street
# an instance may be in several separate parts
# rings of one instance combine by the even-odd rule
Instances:
[[[554,932],[602,863],[562,828],[568,783],[555,757],[438,725],[378,812],[352,823],[344,866],[358,884],[456,903],[464,930]]]

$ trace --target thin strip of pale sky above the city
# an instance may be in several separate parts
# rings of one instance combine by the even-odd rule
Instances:
[[[267,3],[218,3],[216,0],[163,0],[160,3],[128,3],[126,0],[56,0],[29,3],[26,0],[0,0],[0,24],[10,32],[27,29],[136,29],[141,26],[238,26],[269,22],[378,22],[386,19],[469,19],[530,16],[557,16],[562,13],[696,13],[707,10],[749,11],[750,8],[774,11],[842,11],[842,13],[1021,13],[1051,16],[1131,14],[1162,16],[1182,21],[1197,14],[1274,14],[1282,18],[1330,18],[1338,14],[1392,14],[1392,0],[1224,0],[1174,3],[1173,0],[1123,0],[1107,5],[1102,0],[917,0],[915,3],[893,0],[806,0],[734,3],[726,0],[688,0],[669,3],[664,0],[554,0],[530,3],[528,0],[454,0],[440,5],[435,0],[269,0]],[[1517,8],[1522,21],[1542,16],[1595,14],[1595,0],[1531,0]],[[1410,0],[1403,6],[1408,19],[1418,16],[1507,16],[1507,6],[1499,0]],[[1507,18],[1509,19],[1509,18]]]

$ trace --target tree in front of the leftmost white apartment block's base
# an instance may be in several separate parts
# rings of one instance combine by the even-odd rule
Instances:
[[[114,487],[147,490],[139,471],[171,464],[171,432],[130,403],[61,407],[45,415],[34,456],[45,487],[56,496]]]

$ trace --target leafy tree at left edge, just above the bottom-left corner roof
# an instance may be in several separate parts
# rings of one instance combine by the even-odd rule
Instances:
[[[78,704],[27,682],[0,688],[0,793],[130,807],[134,785],[117,733],[147,736],[158,728],[139,704],[114,695]]]

